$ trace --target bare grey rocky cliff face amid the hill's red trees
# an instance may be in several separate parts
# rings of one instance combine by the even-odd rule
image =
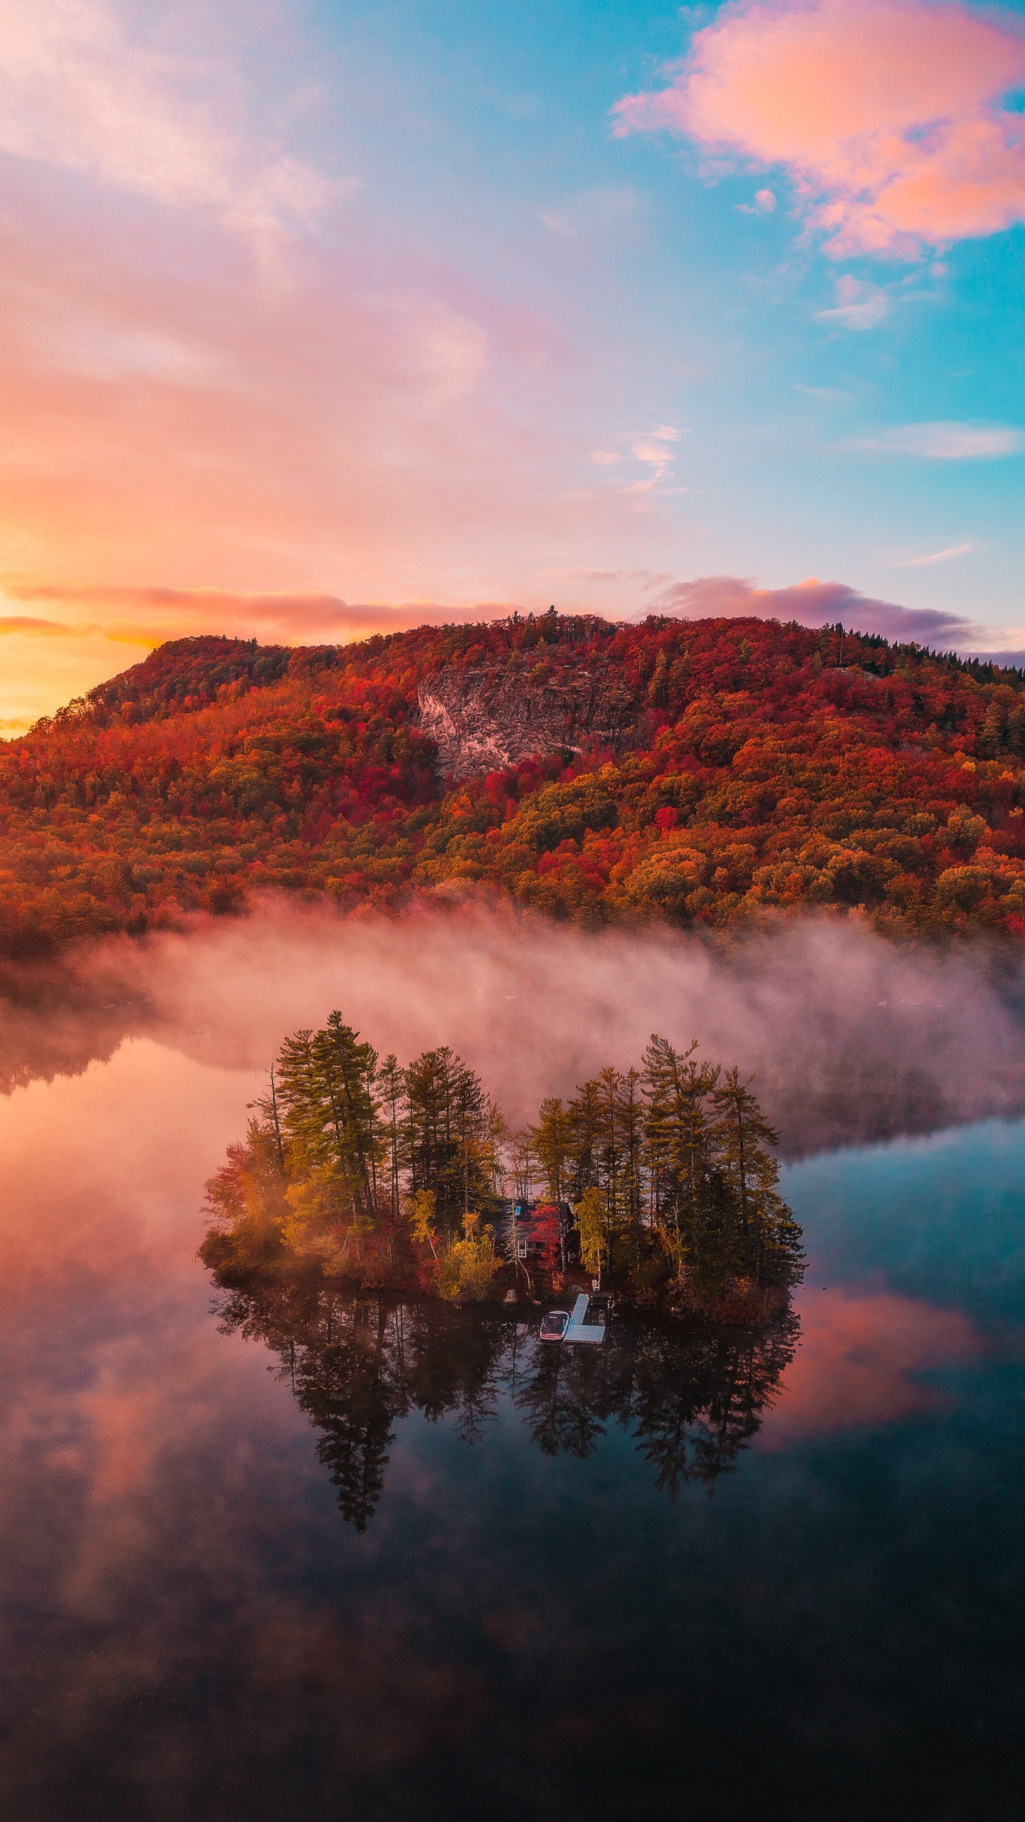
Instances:
[[[533,752],[578,752],[585,738],[618,747],[637,718],[622,683],[596,670],[440,670],[418,691],[419,727],[454,778],[516,765]]]

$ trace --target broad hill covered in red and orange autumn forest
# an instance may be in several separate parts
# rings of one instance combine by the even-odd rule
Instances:
[[[808,906],[1025,933],[1025,680],[839,629],[512,618],[162,645],[0,745],[0,953],[503,895],[584,924]]]

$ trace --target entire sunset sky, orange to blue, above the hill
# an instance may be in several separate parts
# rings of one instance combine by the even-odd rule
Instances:
[[[0,0],[0,736],[516,607],[1025,650],[1025,0]]]

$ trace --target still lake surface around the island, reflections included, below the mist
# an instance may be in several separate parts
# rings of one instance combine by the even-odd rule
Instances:
[[[1025,1126],[792,1168],[801,1334],[571,1365],[223,1332],[248,1093],[137,1042],[0,1108],[4,1815],[1025,1815]]]

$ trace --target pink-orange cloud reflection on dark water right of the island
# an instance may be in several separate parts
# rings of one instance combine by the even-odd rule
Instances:
[[[806,1292],[801,1330],[801,1348],[764,1423],[768,1447],[936,1410],[943,1394],[919,1376],[976,1359],[983,1348],[959,1310],[934,1310],[888,1292]]]

